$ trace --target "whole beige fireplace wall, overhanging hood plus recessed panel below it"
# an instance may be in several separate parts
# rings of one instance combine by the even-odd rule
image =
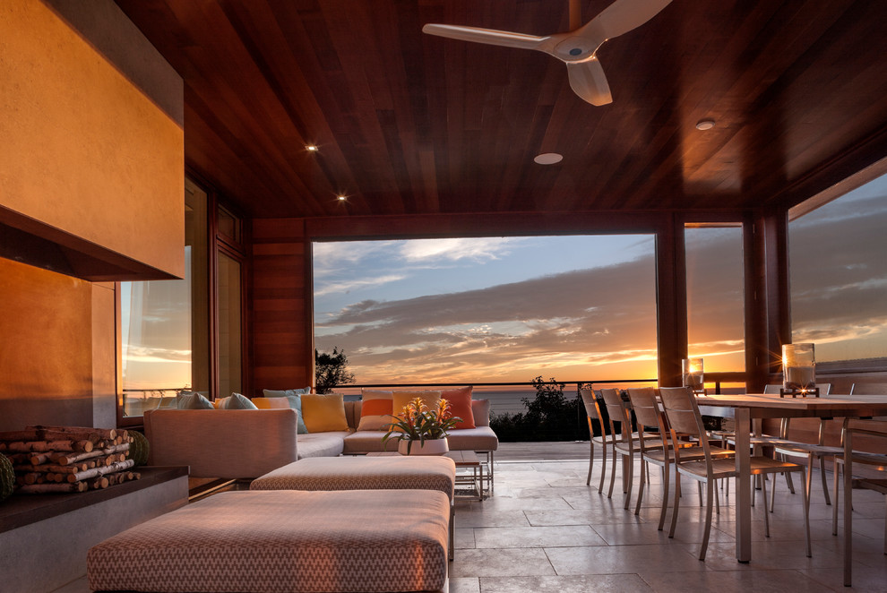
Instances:
[[[185,271],[181,77],[111,0],[47,3],[0,2],[0,244],[39,266],[0,258],[0,430],[116,425],[115,285],[86,279]]]

